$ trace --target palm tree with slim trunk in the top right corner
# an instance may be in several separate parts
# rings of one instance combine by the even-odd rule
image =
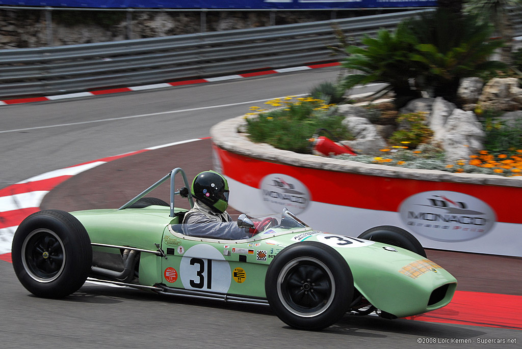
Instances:
[[[522,8],[522,0],[467,0],[464,11],[476,15],[484,23],[493,22],[496,32],[504,40],[501,60],[511,63],[513,51],[513,23],[509,16],[509,8]]]

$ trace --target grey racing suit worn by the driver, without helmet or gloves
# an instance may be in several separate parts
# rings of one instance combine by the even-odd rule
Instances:
[[[241,240],[248,239],[248,229],[238,227],[227,211],[218,213],[196,200],[183,218],[183,233],[198,238]]]

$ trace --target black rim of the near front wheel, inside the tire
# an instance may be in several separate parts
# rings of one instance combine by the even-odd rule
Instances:
[[[285,265],[277,286],[283,306],[304,317],[323,313],[335,295],[335,280],[330,269],[311,257],[296,258]]]

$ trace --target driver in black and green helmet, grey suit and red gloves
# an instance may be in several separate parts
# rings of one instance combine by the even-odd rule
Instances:
[[[194,207],[183,218],[183,233],[199,238],[241,240],[260,231],[256,228],[240,228],[227,213],[229,187],[227,179],[215,171],[199,173],[192,182]],[[259,228],[259,229],[258,229]],[[249,234],[250,233],[250,234]]]

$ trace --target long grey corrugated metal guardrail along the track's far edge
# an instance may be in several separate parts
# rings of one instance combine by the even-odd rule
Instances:
[[[333,61],[338,58],[326,47],[337,44],[333,24],[357,40],[430,10],[152,39],[3,49],[0,97],[49,96]]]

